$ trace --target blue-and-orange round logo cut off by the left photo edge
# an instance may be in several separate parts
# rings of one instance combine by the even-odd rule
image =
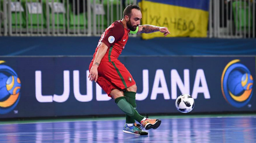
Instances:
[[[20,98],[21,81],[17,73],[0,61],[0,114],[13,110]]]

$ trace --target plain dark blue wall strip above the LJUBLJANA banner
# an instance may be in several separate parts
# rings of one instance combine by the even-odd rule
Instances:
[[[0,56],[92,56],[98,41],[99,37],[0,37]],[[256,40],[129,37],[122,55],[256,55]]]

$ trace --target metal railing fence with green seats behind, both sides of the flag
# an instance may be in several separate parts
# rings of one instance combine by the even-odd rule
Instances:
[[[0,35],[101,35],[136,0],[0,0]],[[210,0],[208,37],[255,38],[255,0]],[[136,35],[134,35],[136,36]]]

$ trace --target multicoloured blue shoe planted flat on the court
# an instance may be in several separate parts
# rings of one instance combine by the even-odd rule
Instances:
[[[128,125],[125,123],[123,132],[131,133],[134,135],[147,135],[148,133],[146,131],[143,131],[141,128],[143,128],[141,124],[134,123],[133,126],[128,127]]]

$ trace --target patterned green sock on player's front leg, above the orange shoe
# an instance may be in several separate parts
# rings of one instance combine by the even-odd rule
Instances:
[[[131,104],[129,104],[126,100],[125,97],[118,97],[115,99],[115,103],[117,104],[117,106],[128,116],[130,116],[131,118],[134,118],[136,121],[138,121],[139,123],[141,123],[141,120],[144,118],[143,116],[141,116],[135,109],[134,107],[132,107]]]

